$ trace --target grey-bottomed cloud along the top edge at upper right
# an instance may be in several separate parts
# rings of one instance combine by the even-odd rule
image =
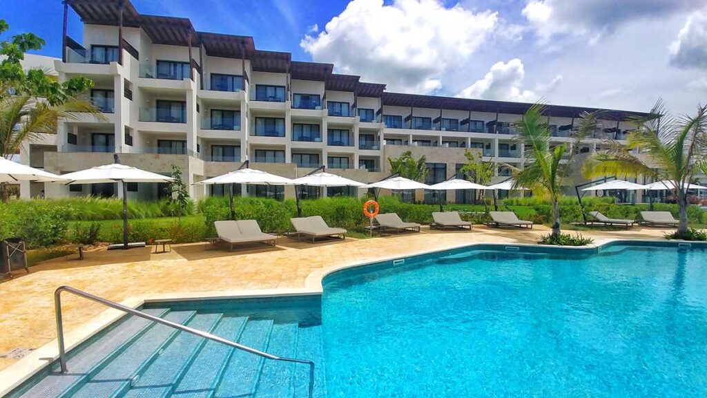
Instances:
[[[586,36],[595,44],[637,18],[665,18],[703,4],[703,0],[529,0],[525,16],[546,44],[555,35]]]

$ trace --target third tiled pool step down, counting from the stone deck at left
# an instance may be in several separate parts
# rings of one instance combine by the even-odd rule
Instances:
[[[221,314],[197,314],[188,325],[210,332],[221,317]],[[203,337],[180,331],[149,368],[132,383],[124,397],[167,397],[206,341]]]

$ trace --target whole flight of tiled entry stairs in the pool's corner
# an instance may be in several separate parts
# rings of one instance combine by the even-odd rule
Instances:
[[[315,362],[312,397],[325,397],[321,325],[170,309],[144,313],[285,358]],[[310,367],[262,358],[127,315],[10,397],[310,397]]]

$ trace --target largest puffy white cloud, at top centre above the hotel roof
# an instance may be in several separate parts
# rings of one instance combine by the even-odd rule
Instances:
[[[387,84],[390,91],[431,93],[446,72],[464,67],[493,35],[498,15],[438,0],[354,0],[300,46],[337,72]]]

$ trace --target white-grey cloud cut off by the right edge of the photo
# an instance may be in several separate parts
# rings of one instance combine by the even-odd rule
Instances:
[[[670,45],[670,63],[681,68],[707,69],[707,8],[687,18]]]

